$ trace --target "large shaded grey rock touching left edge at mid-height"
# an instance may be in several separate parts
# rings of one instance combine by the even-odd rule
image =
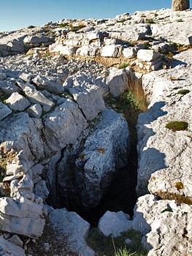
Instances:
[[[0,146],[4,153],[10,149],[24,151],[28,159],[41,159],[44,147],[39,130],[42,122],[29,118],[28,113],[18,113],[1,121]]]

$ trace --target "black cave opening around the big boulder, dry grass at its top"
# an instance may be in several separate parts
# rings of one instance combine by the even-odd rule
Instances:
[[[73,194],[73,189],[66,192],[61,192],[59,186],[57,186],[58,176],[55,172],[55,191],[50,192],[50,196],[47,198],[47,204],[53,206],[53,208],[66,208],[68,211],[75,211],[77,214],[85,219],[91,224],[91,227],[97,227],[99,219],[105,214],[106,211],[123,211],[125,214],[129,214],[130,217],[133,217],[134,206],[137,202],[137,167],[138,167],[138,156],[137,156],[137,119],[139,113],[145,112],[147,110],[147,102],[145,100],[145,94],[142,89],[142,78],[130,77],[128,75],[128,89],[131,91],[134,99],[134,103],[128,105],[124,104],[123,97],[115,98],[115,101],[112,101],[113,107],[110,105],[110,101],[105,99],[105,102],[109,108],[115,108],[118,112],[123,113],[123,116],[128,122],[128,129],[130,132],[130,150],[128,155],[128,165],[121,167],[119,170],[116,170],[115,175],[112,178],[110,187],[107,189],[107,192],[104,193],[104,196],[101,198],[98,206],[94,208],[89,208],[88,210],[83,209],[78,206],[77,198]],[[129,99],[128,99],[129,100]],[[123,106],[123,107],[122,107]],[[117,109],[118,108],[118,109]],[[70,146],[68,147],[70,151]],[[60,158],[67,159],[66,151],[61,152]],[[78,153],[74,156],[74,159],[77,159]],[[59,158],[59,157],[58,157]],[[74,159],[69,159],[63,163],[66,166],[68,172],[74,170]],[[63,160],[62,160],[63,161]],[[58,159],[60,164],[60,160]],[[57,164],[58,165],[58,164]],[[67,168],[68,166],[68,168]],[[67,173],[67,172],[66,172]],[[66,174],[65,174],[66,175]],[[75,176],[75,173],[74,173]],[[75,187],[75,177],[74,181],[71,181],[72,187]],[[61,195],[63,193],[63,195]],[[54,194],[54,195],[53,195]],[[70,194],[70,195],[69,195]],[[70,200],[69,198],[70,197]],[[74,200],[73,200],[74,199]]]

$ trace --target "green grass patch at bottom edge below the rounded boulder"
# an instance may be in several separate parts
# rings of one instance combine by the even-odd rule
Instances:
[[[99,256],[130,256],[132,253],[136,256],[145,256],[147,255],[147,251],[141,244],[142,236],[142,233],[139,231],[131,229],[122,232],[121,236],[113,238],[111,235],[104,236],[99,229],[95,227],[90,230],[87,238],[87,244],[88,246],[91,246]],[[125,244],[127,238],[132,241],[129,245]]]

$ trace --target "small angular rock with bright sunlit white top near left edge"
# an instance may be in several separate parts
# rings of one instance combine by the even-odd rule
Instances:
[[[20,95],[18,92],[12,93],[12,95],[6,99],[6,103],[9,108],[15,111],[23,111],[31,105],[28,99]]]

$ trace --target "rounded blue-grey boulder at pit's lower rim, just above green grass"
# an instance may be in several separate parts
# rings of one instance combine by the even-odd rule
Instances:
[[[131,221],[128,214],[124,214],[123,211],[111,212],[107,211],[101,219],[99,219],[99,230],[104,236],[117,237],[120,233],[127,231],[131,228]]]

